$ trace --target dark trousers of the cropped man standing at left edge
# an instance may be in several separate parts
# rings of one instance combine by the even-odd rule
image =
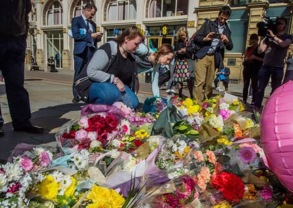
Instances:
[[[29,127],[31,118],[29,96],[24,88],[26,36],[0,38],[0,69],[5,80],[12,126]]]

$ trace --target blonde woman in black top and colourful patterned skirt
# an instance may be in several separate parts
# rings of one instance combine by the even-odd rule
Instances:
[[[175,43],[175,70],[174,82],[179,83],[179,97],[182,98],[183,82],[187,82],[190,98],[193,99],[192,82],[191,82],[191,68],[190,62],[188,63],[188,56],[186,54],[186,45],[188,42],[188,31],[186,27],[181,27],[176,34]]]

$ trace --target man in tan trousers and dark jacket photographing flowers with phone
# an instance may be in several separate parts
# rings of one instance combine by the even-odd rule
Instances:
[[[202,90],[206,83],[204,99],[212,94],[212,81],[216,68],[223,68],[224,50],[232,50],[231,31],[226,21],[231,15],[229,6],[223,6],[214,21],[206,19],[202,27],[195,33],[194,43],[200,49],[196,52],[194,98],[201,103]]]

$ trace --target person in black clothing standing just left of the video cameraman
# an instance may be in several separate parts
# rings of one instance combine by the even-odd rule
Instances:
[[[249,85],[252,87],[251,107],[254,106],[255,94],[257,92],[258,71],[263,63],[265,53],[259,54],[258,36],[252,34],[249,38],[250,46],[245,50],[243,61],[243,102],[246,104]]]

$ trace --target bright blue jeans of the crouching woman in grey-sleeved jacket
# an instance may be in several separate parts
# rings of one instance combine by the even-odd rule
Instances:
[[[122,101],[131,109],[138,106],[138,98],[128,86],[125,85],[125,93],[109,82],[94,82],[89,89],[89,102],[95,104],[112,105],[114,102]]]

